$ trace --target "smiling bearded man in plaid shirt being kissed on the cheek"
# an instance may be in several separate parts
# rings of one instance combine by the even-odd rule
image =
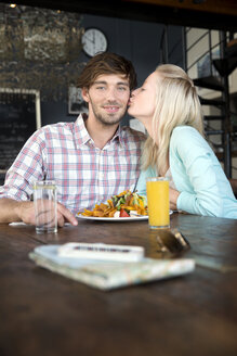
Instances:
[[[77,225],[77,212],[134,189],[144,135],[119,123],[135,85],[131,62],[120,55],[100,53],[88,62],[78,84],[88,117],[48,125],[29,138],[0,189],[0,223],[35,225],[36,180],[56,181],[58,226]]]

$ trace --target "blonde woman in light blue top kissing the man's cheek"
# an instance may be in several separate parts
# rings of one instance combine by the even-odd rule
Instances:
[[[200,102],[192,79],[170,64],[160,65],[132,92],[129,114],[147,129],[140,194],[146,177],[170,178],[170,207],[190,214],[237,218],[231,185],[203,138]]]

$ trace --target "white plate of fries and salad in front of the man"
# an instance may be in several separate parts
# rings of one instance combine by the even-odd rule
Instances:
[[[146,198],[126,190],[118,195],[113,195],[106,204],[95,204],[92,211],[84,209],[82,213],[78,213],[77,217],[109,223],[147,220]]]

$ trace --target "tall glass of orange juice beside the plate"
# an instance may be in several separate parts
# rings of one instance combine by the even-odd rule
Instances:
[[[146,178],[146,194],[150,229],[169,228],[169,179],[166,177]]]

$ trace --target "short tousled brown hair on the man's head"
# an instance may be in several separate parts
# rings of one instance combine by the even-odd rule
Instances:
[[[136,87],[136,74],[132,62],[116,53],[103,52],[95,54],[82,69],[79,79],[79,88],[90,88],[95,79],[103,74],[124,75],[129,79],[130,90]]]

